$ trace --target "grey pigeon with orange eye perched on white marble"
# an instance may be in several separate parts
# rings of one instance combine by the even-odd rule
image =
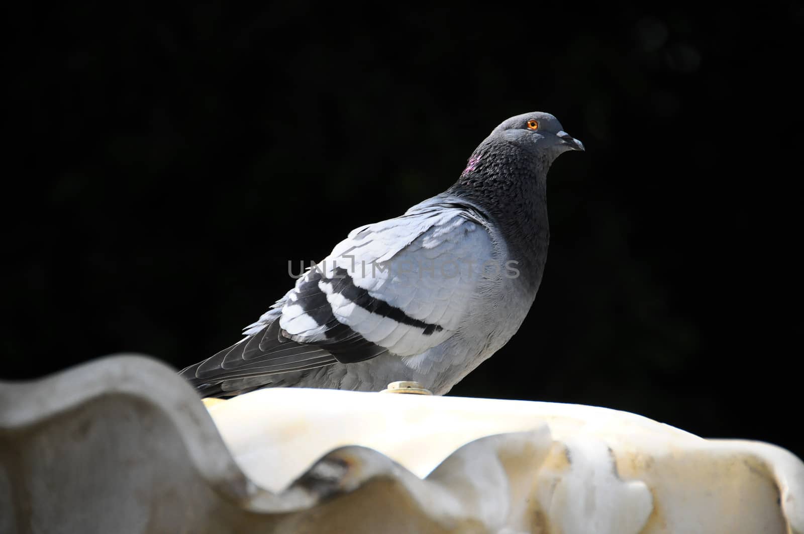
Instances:
[[[549,113],[498,125],[446,191],[356,228],[237,343],[180,372],[199,394],[449,392],[522,324],[548,253],[553,161],[584,145]]]

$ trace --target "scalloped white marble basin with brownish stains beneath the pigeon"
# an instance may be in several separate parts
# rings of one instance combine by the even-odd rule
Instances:
[[[0,383],[0,532],[804,534],[802,502],[786,450],[589,406],[269,389],[207,410],[133,356]]]

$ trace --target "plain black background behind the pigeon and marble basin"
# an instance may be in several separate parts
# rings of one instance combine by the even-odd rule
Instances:
[[[203,359],[289,289],[288,260],[443,191],[543,110],[587,151],[551,170],[527,321],[451,394],[804,456],[804,8],[535,7],[12,8],[0,376]]]

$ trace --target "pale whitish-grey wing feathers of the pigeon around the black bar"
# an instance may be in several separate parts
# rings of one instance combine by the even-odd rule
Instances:
[[[423,203],[352,231],[317,265],[318,287],[337,322],[396,355],[417,355],[460,327],[492,249],[477,213]],[[293,339],[314,343],[336,325],[318,325],[294,291],[283,299],[280,325]]]

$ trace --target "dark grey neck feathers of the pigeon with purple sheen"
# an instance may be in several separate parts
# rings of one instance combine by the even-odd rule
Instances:
[[[503,233],[526,290],[535,296],[547,260],[550,230],[547,175],[552,157],[486,139],[446,191],[481,207]]]

